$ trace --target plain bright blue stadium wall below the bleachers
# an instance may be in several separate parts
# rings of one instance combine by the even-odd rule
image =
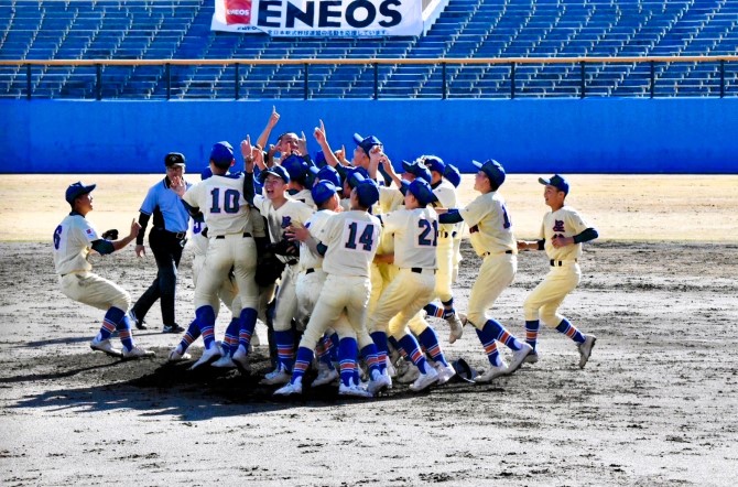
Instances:
[[[151,173],[183,152],[189,171],[210,145],[323,119],[334,149],[375,134],[395,165],[435,153],[463,172],[497,159],[511,173],[738,174],[738,98],[495,100],[0,100],[0,173]]]

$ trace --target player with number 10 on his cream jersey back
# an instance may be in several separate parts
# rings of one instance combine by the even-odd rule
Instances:
[[[195,286],[195,318],[205,343],[205,350],[193,368],[211,364],[223,355],[215,343],[215,310],[213,303],[223,280],[232,268],[241,300],[239,346],[234,360],[245,360],[257,322],[259,292],[253,280],[257,247],[251,235],[251,212],[247,201],[252,197],[252,173],[227,174],[235,163],[234,149],[218,142],[210,151],[213,177],[193,185],[183,199],[203,214],[208,230],[205,266]],[[175,348],[182,355],[184,350]]]

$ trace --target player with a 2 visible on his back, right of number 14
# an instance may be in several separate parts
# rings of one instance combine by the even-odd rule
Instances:
[[[419,368],[420,376],[410,386],[413,391],[421,391],[436,381],[445,383],[455,374],[441,350],[433,328],[425,324],[419,338],[434,360],[439,362],[439,372],[426,362],[417,340],[408,329],[411,318],[419,316],[433,297],[436,285],[438,221],[435,212],[427,207],[435,201],[431,186],[416,178],[406,186],[404,208],[380,216],[384,232],[394,235],[394,264],[399,271],[382,291],[368,327],[386,332],[389,326],[390,334]]]

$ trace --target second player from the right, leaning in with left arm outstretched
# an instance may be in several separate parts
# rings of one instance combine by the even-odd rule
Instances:
[[[518,246],[504,199],[498,193],[504,183],[504,169],[493,160],[484,164],[474,161],[474,164],[479,169],[474,188],[480,195],[465,208],[447,212],[438,209],[438,219],[451,224],[464,220],[469,226],[474,250],[484,259],[479,275],[471,286],[467,316],[468,322],[477,328],[477,336],[491,365],[476,381],[489,382],[498,376],[514,372],[533,347],[520,342],[500,322],[487,316],[487,310],[515,277]],[[510,366],[500,357],[496,342],[513,350]]]

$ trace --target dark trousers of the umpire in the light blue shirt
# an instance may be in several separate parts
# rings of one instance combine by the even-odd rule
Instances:
[[[174,300],[177,286],[177,268],[185,244],[184,234],[174,234],[163,228],[152,228],[149,232],[149,247],[156,259],[156,279],[133,305],[139,322],[143,321],[151,306],[161,299],[162,322],[174,325]]]

